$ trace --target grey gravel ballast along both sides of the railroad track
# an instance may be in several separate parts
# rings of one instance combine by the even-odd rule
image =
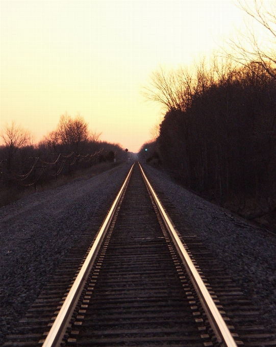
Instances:
[[[0,345],[97,213],[107,212],[130,167],[123,164],[0,209]],[[254,299],[262,324],[276,333],[276,237],[175,184],[166,172],[145,164],[143,169]]]

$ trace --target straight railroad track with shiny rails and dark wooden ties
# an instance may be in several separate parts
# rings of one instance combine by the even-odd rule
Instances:
[[[136,163],[94,239],[88,231],[69,252],[4,346],[276,346],[162,200],[166,210]]]

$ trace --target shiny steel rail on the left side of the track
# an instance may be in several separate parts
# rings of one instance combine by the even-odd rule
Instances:
[[[74,281],[60,311],[59,314],[57,315],[57,318],[51,328],[51,330],[49,331],[42,347],[58,347],[60,346],[60,343],[62,341],[62,338],[65,334],[65,331],[67,329],[68,323],[71,319],[72,313],[74,311],[74,308],[76,307],[81,292],[83,290],[83,287],[87,281],[87,278],[89,276],[89,272],[91,271],[91,268],[93,266],[93,263],[96,259],[97,253],[99,251],[99,248],[101,247],[101,244],[103,242],[103,239],[106,235],[106,232],[110,226],[111,220],[113,218],[113,215],[116,211],[116,208],[119,204],[120,198],[123,194],[124,188],[127,187],[127,184],[129,182],[129,179],[131,177],[131,173],[133,170],[133,166],[132,165],[129,174],[126,178],[126,180],[124,180],[124,183],[118,193],[118,195],[116,196],[116,199],[114,200],[112,207],[104,221],[104,224],[101,228],[101,230],[99,231],[93,245],[92,248],[79,272],[79,275],[77,276],[76,280]]]

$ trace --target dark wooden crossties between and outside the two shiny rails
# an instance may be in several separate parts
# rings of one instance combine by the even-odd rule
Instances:
[[[207,316],[137,164],[122,197],[62,344],[216,345]],[[177,217],[179,222],[172,207],[166,207],[173,212],[172,219]],[[189,252],[236,343],[276,345],[275,337],[257,326],[254,305],[216,265],[189,226],[183,221],[180,224],[185,233],[181,239],[193,254]],[[84,253],[83,249],[72,251],[21,321],[18,333],[8,336],[6,346],[44,342],[43,334],[46,336],[51,328]]]

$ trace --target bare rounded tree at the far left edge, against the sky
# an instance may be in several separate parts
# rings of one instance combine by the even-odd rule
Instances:
[[[12,121],[11,126],[6,123],[0,136],[7,147],[7,168],[10,169],[15,153],[20,147],[30,144],[31,135],[29,130]]]

